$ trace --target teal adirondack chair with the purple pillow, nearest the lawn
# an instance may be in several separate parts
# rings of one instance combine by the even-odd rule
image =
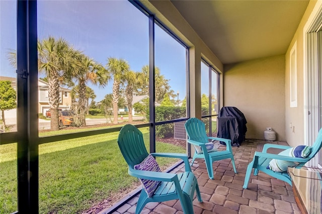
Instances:
[[[150,153],[153,157],[181,158],[185,163],[185,172],[166,173],[137,170],[135,165],[140,164],[149,154],[146,151],[142,133],[133,125],[125,125],[117,139],[121,153],[129,166],[128,173],[134,177],[161,181],[151,197],[142,189],[135,213],[140,213],[148,202],[162,202],[179,199],[184,213],[193,214],[192,200],[196,192],[199,202],[202,202],[197,178],[192,173],[186,154],[180,153]]]

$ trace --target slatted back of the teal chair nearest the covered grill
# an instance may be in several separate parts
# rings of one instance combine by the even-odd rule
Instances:
[[[206,134],[205,124],[201,120],[197,118],[190,118],[185,123],[185,129],[190,140],[198,141],[200,143],[209,142]]]

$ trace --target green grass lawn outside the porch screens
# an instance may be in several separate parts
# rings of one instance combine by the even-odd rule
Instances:
[[[147,129],[141,131],[147,145]],[[139,183],[127,173],[117,136],[115,132],[39,145],[39,213],[80,213],[135,188]],[[157,142],[156,147],[185,153],[171,144]],[[0,146],[0,213],[17,210],[16,151],[16,144]],[[166,158],[157,161],[163,169],[173,163]]]

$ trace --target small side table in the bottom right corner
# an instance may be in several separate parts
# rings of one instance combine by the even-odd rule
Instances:
[[[301,213],[322,213],[322,170],[308,167],[300,169],[288,167],[288,174],[291,177],[295,201]]]

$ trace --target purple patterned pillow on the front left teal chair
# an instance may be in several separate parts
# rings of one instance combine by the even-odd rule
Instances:
[[[161,172],[159,165],[157,164],[152,155],[148,155],[140,164],[135,165],[134,169]],[[153,195],[155,189],[160,183],[160,181],[142,178],[139,178],[139,181],[141,182],[143,189],[146,191],[149,197]]]

